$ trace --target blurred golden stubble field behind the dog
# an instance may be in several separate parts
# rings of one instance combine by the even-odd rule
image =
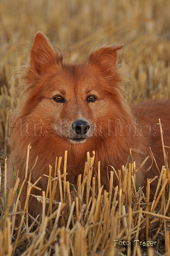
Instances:
[[[79,62],[96,45],[123,43],[119,51],[131,103],[170,94],[169,0],[1,0],[0,1],[0,160],[7,154],[7,122],[23,89],[38,30]],[[19,86],[19,87],[18,87]]]

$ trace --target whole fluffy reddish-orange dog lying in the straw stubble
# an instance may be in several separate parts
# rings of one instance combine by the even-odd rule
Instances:
[[[87,151],[95,150],[96,169],[98,161],[101,161],[102,185],[107,190],[107,166],[113,165],[118,170],[126,165],[130,148],[139,167],[149,155],[151,146],[161,168],[161,138],[160,132],[154,130],[159,130],[159,126],[154,125],[161,118],[165,144],[170,145],[170,102],[152,101],[132,107],[127,104],[121,86],[123,79],[116,69],[117,50],[120,48],[122,46],[99,47],[88,55],[84,63],[67,64],[41,32],[35,35],[30,65],[24,75],[26,89],[11,125],[11,155],[21,182],[25,178],[29,143],[32,147],[29,171],[36,155],[39,157],[31,181],[34,183],[42,176],[38,183],[42,190],[47,186],[47,178],[43,174],[48,174],[48,165],[51,164],[54,170],[56,156],[63,156],[65,150],[68,150],[67,181],[75,184],[77,175],[83,174]],[[10,159],[8,163],[7,185],[10,188],[14,186],[14,174]],[[157,175],[154,163],[145,174],[150,164],[148,161],[137,172],[138,187],[145,186],[147,177]],[[117,184],[115,177],[114,185]],[[155,186],[156,182],[151,184],[152,197]],[[26,187],[27,184],[21,195],[22,207]],[[37,190],[33,193],[41,194]],[[41,204],[31,197],[30,213],[36,215],[41,209]]]

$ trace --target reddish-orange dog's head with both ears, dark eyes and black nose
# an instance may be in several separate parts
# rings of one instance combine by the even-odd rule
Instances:
[[[96,126],[105,125],[119,112],[116,51],[121,47],[100,47],[86,62],[71,65],[63,63],[62,55],[54,53],[48,39],[37,33],[25,75],[29,97],[23,112],[28,113],[27,119],[36,120],[41,134],[58,135],[71,143],[94,136]]]

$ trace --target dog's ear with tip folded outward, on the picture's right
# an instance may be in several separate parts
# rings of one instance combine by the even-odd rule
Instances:
[[[117,51],[122,47],[123,45],[99,47],[88,55],[87,62],[99,65],[107,73],[114,71],[118,57]]]

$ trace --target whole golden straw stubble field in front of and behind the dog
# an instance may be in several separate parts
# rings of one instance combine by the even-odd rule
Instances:
[[[13,205],[13,198],[18,181],[9,191],[7,202],[5,182],[9,117],[24,87],[21,75],[29,61],[34,34],[41,30],[71,62],[82,61],[101,43],[124,43],[118,61],[125,74],[124,97],[131,102],[169,98],[169,10],[167,0],[0,1],[0,255],[170,255],[167,162],[163,162],[155,199],[150,202],[149,181],[146,195],[136,191],[135,162],[116,171],[112,167],[110,191],[103,191],[100,163],[98,170],[93,169],[95,152],[90,153],[93,157],[87,153],[84,175],[78,177],[77,187],[67,181],[67,152],[63,160],[56,155],[56,178],[51,177],[49,166],[47,190],[37,198],[42,202],[42,215],[33,219],[27,212],[31,189],[36,185],[29,183],[25,207],[18,213],[17,230],[15,209],[19,200]],[[165,154],[164,144],[163,149]],[[29,151],[30,147],[28,156]],[[60,174],[60,165],[64,165],[64,174]],[[119,187],[113,189],[115,175]],[[52,213],[55,194],[59,200],[54,201]],[[86,200],[82,202],[83,198]],[[45,203],[49,206],[47,216]]]

